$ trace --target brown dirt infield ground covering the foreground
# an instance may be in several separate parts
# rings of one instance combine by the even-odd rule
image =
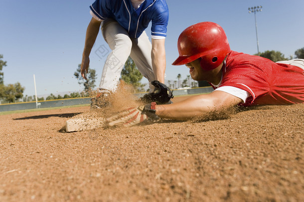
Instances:
[[[304,199],[303,104],[224,120],[58,131],[88,110],[0,116],[1,202]]]

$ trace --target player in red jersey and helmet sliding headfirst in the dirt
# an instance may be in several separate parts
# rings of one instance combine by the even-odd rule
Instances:
[[[152,102],[107,119],[108,126],[132,126],[148,119],[187,120],[221,112],[235,105],[289,105],[304,103],[304,60],[273,62],[230,49],[223,28],[200,22],[186,28],[177,42],[179,57],[192,79],[208,81],[210,94],[169,105]],[[165,88],[159,97],[170,99]]]

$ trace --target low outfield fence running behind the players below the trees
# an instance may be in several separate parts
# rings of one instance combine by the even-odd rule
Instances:
[[[174,96],[179,95],[191,95],[191,94],[203,94],[210,93],[213,91],[213,88],[208,87],[199,87],[199,88],[189,88],[189,89],[175,89],[173,90]],[[145,93],[135,94],[137,97],[142,97]],[[45,100],[38,101],[38,108],[50,108],[50,107],[63,107],[63,106],[72,106],[72,105],[82,105],[90,104],[91,97],[82,97],[82,98],[69,98],[69,99],[60,99],[60,100]],[[19,103],[9,103],[9,104],[0,104],[0,112],[4,111],[15,111],[15,110],[24,110],[24,109],[35,109],[36,102],[19,102]]]

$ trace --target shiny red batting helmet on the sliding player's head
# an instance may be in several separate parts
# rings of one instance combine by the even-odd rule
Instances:
[[[218,67],[231,51],[224,29],[214,22],[199,22],[181,32],[177,41],[179,57],[172,65],[187,64],[201,57],[205,70]]]

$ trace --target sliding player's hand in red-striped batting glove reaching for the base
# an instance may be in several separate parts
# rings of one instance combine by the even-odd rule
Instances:
[[[155,115],[155,102],[148,105],[142,105],[127,109],[106,119],[106,126],[133,126],[142,123],[145,120],[158,120],[159,117]]]

